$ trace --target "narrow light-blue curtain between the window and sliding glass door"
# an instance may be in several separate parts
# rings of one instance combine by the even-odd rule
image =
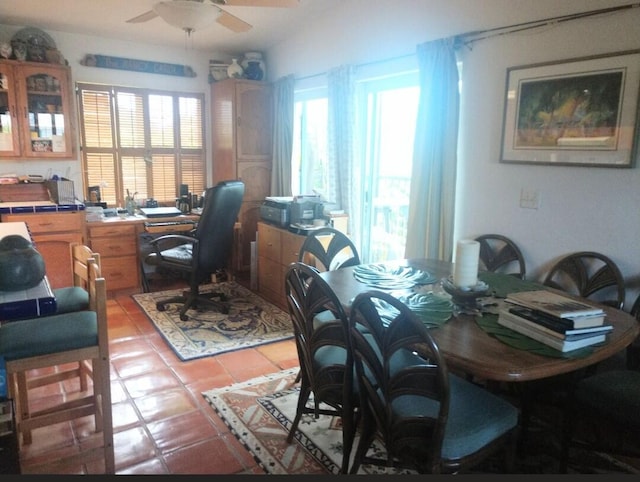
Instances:
[[[356,175],[355,80],[354,67],[343,65],[328,72],[328,185],[327,201],[337,204],[349,215],[348,230],[358,245],[356,224],[361,218],[359,182]]]

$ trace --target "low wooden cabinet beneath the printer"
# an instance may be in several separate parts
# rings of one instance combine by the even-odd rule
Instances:
[[[287,267],[298,261],[304,236],[258,222],[258,291],[265,299],[287,309],[284,279]]]

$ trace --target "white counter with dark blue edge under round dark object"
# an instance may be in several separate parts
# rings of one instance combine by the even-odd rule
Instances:
[[[0,223],[0,239],[18,234],[31,241],[26,223]],[[56,312],[56,299],[44,279],[33,288],[19,291],[0,291],[0,323],[2,321],[52,315]]]

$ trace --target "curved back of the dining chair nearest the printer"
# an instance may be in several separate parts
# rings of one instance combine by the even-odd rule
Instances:
[[[319,271],[330,271],[360,264],[358,249],[349,236],[326,226],[307,235],[298,261],[315,266]]]

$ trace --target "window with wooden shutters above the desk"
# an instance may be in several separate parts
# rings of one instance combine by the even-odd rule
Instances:
[[[180,184],[205,188],[204,95],[77,84],[85,186],[124,206],[153,198],[173,206]]]

